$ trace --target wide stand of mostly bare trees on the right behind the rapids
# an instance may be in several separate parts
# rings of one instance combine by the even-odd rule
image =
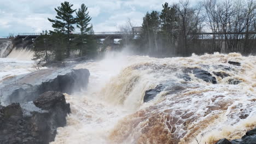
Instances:
[[[130,44],[137,52],[155,57],[256,53],[254,0],[205,0],[190,5],[188,0],[165,3],[161,11],[148,12],[139,37],[130,39]]]

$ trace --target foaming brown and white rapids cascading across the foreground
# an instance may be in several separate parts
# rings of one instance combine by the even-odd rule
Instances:
[[[228,64],[241,62],[241,67]],[[214,53],[183,58],[110,55],[77,65],[91,77],[87,91],[66,95],[72,114],[52,143],[214,143],[256,127],[256,57]],[[183,70],[224,72],[218,84]],[[230,79],[241,81],[231,85]],[[148,89],[167,87],[143,103]],[[197,140],[197,141],[196,141]]]

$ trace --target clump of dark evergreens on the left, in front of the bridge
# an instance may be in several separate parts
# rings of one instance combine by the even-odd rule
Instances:
[[[34,59],[40,59],[39,63],[96,55],[98,41],[92,35],[94,31],[89,24],[91,17],[88,8],[85,4],[82,4],[78,10],[72,7],[73,4],[64,2],[60,7],[55,8],[56,19],[48,18],[54,31],[43,31],[40,37],[34,40]],[[73,34],[75,27],[79,29],[79,34]]]

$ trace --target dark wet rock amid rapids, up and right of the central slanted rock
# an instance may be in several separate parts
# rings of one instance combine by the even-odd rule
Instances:
[[[190,77],[188,76],[188,73],[193,73],[195,75],[195,77],[197,77],[198,79],[201,79],[205,82],[211,82],[213,84],[216,84],[216,77],[212,76],[208,71],[206,70],[202,70],[199,68],[187,68],[185,70],[183,70],[183,73],[187,74],[185,75],[185,80],[190,80]]]

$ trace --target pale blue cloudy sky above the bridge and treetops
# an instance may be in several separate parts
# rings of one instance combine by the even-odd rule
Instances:
[[[195,0],[194,0],[195,1]],[[47,18],[56,15],[54,8],[62,0],[0,0],[0,36],[9,33],[42,32],[51,29]],[[128,18],[141,26],[142,17],[150,10],[161,10],[162,4],[178,0],[69,0],[78,9],[82,3],[89,8],[95,32],[116,31]]]

